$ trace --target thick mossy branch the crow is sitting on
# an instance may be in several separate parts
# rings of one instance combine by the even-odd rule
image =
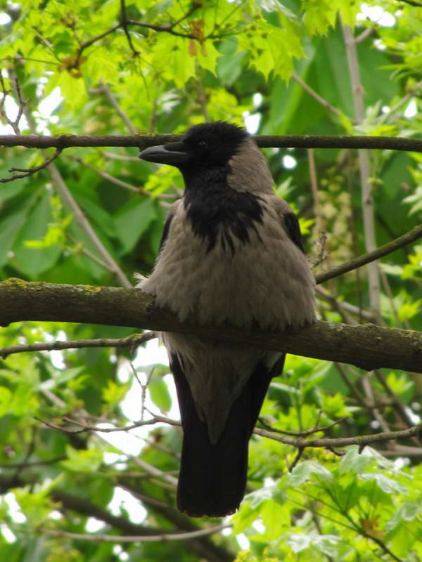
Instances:
[[[380,367],[422,373],[422,334],[372,324],[350,326],[315,322],[297,332],[252,332],[229,326],[180,322],[156,308],[141,289],[51,285],[9,279],[0,283],[0,325],[23,320],[128,326],[241,340],[262,348],[305,357],[346,362],[366,370]]]

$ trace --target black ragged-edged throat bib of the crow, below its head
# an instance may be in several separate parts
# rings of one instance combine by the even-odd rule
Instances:
[[[250,241],[250,231],[257,233],[262,223],[260,197],[239,192],[227,183],[229,164],[195,171],[186,171],[184,206],[193,233],[207,241],[207,252],[217,244],[221,233],[224,251],[235,252],[233,237],[243,244]]]

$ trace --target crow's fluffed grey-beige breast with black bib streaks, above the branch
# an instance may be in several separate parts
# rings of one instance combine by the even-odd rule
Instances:
[[[243,329],[299,327],[314,320],[314,277],[283,226],[286,204],[275,195],[237,202],[207,221],[191,204],[172,209],[167,239],[140,287],[181,320]]]

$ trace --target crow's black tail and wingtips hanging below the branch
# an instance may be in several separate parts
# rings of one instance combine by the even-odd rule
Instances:
[[[213,444],[207,425],[198,417],[181,365],[172,356],[184,429],[177,491],[181,511],[193,517],[224,517],[238,509],[246,488],[249,439],[271,377],[279,373],[279,366],[278,362],[269,371],[261,362],[257,364],[231,407],[222,435]]]

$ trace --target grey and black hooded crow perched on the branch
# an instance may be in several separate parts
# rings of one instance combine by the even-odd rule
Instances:
[[[314,322],[314,277],[298,218],[277,197],[267,162],[240,127],[214,122],[181,142],[143,150],[176,166],[172,204],[151,277],[138,286],[179,319],[244,332]],[[177,504],[190,516],[226,516],[245,494],[248,442],[284,353],[219,337],[164,332],[184,439]]]

